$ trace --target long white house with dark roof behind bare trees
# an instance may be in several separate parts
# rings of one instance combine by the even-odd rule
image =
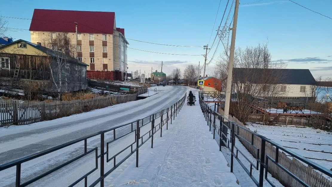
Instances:
[[[252,73],[252,75],[250,75],[250,73]],[[255,77],[250,79],[250,81],[260,84],[260,76],[262,74],[267,76],[278,76],[278,74],[282,75],[275,82],[278,86],[280,86],[280,93],[278,96],[274,97],[278,101],[306,103],[311,99],[315,99],[312,97],[311,93],[313,87],[312,85],[315,85],[316,81],[309,69],[233,69],[233,77],[235,77],[237,81],[240,81],[240,83],[248,81],[246,78],[243,78],[243,75],[247,75],[248,77]]]

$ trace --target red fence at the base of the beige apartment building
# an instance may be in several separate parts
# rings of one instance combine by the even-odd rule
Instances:
[[[95,71],[95,70],[86,71],[87,78],[101,79],[101,80],[124,80],[124,77],[126,75],[127,73],[121,71]]]

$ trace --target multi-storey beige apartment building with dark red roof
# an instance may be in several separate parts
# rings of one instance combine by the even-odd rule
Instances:
[[[35,9],[30,33],[35,44],[67,34],[77,49],[75,57],[88,64],[88,70],[127,71],[128,42],[124,29],[116,27],[114,12]]]

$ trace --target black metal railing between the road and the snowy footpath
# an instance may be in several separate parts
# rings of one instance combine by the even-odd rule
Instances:
[[[125,125],[120,125],[108,130],[100,131],[98,133],[94,133],[89,136],[85,136],[82,138],[79,138],[77,140],[73,140],[49,149],[46,149],[44,151],[14,160],[9,163],[5,163],[0,165],[0,171],[9,169],[11,167],[16,167],[16,180],[15,180],[15,186],[16,187],[24,187],[28,186],[41,178],[65,167],[66,165],[73,163],[74,161],[89,155],[94,154],[95,156],[95,167],[92,168],[90,171],[88,171],[85,174],[82,174],[80,178],[78,178],[76,181],[72,182],[69,187],[75,186],[80,181],[84,179],[84,186],[87,187],[93,187],[100,183],[100,186],[104,186],[104,179],[106,176],[108,176],[112,171],[114,171],[120,164],[122,164],[129,156],[136,153],[136,167],[138,167],[138,148],[142,146],[147,140],[151,138],[151,148],[153,148],[153,136],[157,133],[157,131],[160,130],[160,137],[162,137],[162,131],[163,126],[166,125],[166,130],[168,129],[168,123],[170,122],[172,124],[172,119],[174,120],[179,111],[182,109],[184,103],[186,102],[187,93],[176,103],[171,105],[170,107],[163,109],[160,112],[154,113],[152,115],[149,115],[145,118],[127,123]],[[132,141],[127,141],[127,144],[121,143],[121,150],[118,152],[112,152],[112,143],[116,142],[120,139],[132,139]],[[91,142],[88,142],[88,140],[96,140],[100,139],[100,145],[97,144],[97,146],[88,149],[88,147],[91,147],[92,145],[89,145]],[[42,174],[38,174],[38,176],[33,176],[31,179],[25,179],[23,183],[21,182],[21,166],[27,161],[38,159],[39,157],[47,154],[52,154],[54,151],[57,150],[64,150],[63,148],[66,148],[70,145],[73,145],[75,143],[83,142],[84,141],[84,153],[80,154],[74,158],[71,158],[70,160],[65,161],[64,163],[61,163],[60,165],[57,165],[56,167],[43,172]],[[119,143],[119,142],[118,142]],[[135,145],[136,144],[136,145]],[[105,145],[106,145],[106,151],[105,151]],[[119,144],[117,144],[119,145]],[[98,147],[100,146],[100,151],[98,151]],[[128,151],[124,158],[120,158],[120,154],[125,153],[124,151]],[[100,154],[98,154],[100,152]],[[122,155],[123,156],[123,155]],[[105,160],[106,157],[106,160]],[[109,168],[108,171],[105,172],[105,165],[108,162],[111,162],[113,160],[113,167]],[[98,169],[98,166],[100,166],[100,177],[94,181],[89,181],[88,185],[88,176],[95,172]],[[30,169],[30,168],[28,168]],[[40,173],[40,172],[38,172]],[[68,173],[68,175],[71,175]],[[47,181],[48,182],[48,181]]]

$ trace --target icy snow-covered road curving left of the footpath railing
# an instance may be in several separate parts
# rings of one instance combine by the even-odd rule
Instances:
[[[40,152],[47,148],[101,130],[106,130],[143,118],[174,104],[183,97],[186,91],[187,87],[166,86],[160,88],[158,94],[143,100],[127,102],[104,109],[31,125],[0,128],[0,164]],[[100,139],[95,138],[88,140],[88,148],[96,147],[98,145],[100,145]],[[100,151],[100,147],[98,148],[98,151]],[[64,160],[67,161],[73,158],[73,156],[78,156],[81,153],[82,143],[77,143],[70,147],[55,151],[52,154],[28,161],[22,165],[22,182],[36,177],[36,175],[63,163]],[[92,156],[94,155],[92,154],[91,157]],[[82,170],[91,169],[91,167],[83,167],[86,160],[89,160],[89,158],[82,158],[76,161],[76,163],[66,166],[61,171],[62,173],[71,172],[72,176],[69,178],[80,176]],[[83,165],[82,168],[78,167],[81,165]],[[77,172],[75,172],[76,170]],[[44,178],[49,181],[57,179],[57,176],[58,174],[54,173],[50,175],[50,177]],[[0,172],[0,186],[13,186],[14,182],[15,168]],[[53,186],[52,184],[49,185]],[[34,184],[33,186],[39,185]],[[45,185],[43,184],[41,186]]]

